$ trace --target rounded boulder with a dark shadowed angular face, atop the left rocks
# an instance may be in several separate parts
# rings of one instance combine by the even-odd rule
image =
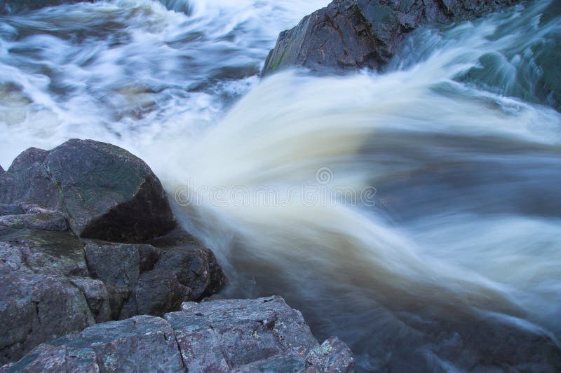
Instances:
[[[177,225],[156,175],[124,149],[69,140],[50,151],[46,166],[79,237],[136,242]]]

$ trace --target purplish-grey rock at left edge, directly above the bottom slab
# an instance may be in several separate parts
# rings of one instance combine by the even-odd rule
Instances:
[[[0,244],[0,362],[95,323],[86,298],[64,276],[37,273],[27,248]],[[55,258],[51,258],[54,262]],[[62,267],[57,265],[53,267]],[[52,269],[52,268],[51,268]]]

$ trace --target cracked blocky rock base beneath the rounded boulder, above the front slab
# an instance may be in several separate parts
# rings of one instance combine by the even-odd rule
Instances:
[[[0,220],[0,363],[94,323],[162,316],[222,285],[222,269],[210,250],[167,250],[103,241],[84,245],[71,232],[18,230]]]

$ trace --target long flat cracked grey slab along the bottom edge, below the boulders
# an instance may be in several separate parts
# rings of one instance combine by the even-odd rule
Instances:
[[[354,372],[337,338],[319,345],[280,297],[186,303],[41,344],[1,372]]]

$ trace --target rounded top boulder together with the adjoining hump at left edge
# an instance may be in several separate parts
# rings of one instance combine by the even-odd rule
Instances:
[[[0,176],[0,203],[60,209],[74,234],[106,241],[145,241],[177,225],[146,163],[91,140],[69,140],[50,151],[25,150]]]

